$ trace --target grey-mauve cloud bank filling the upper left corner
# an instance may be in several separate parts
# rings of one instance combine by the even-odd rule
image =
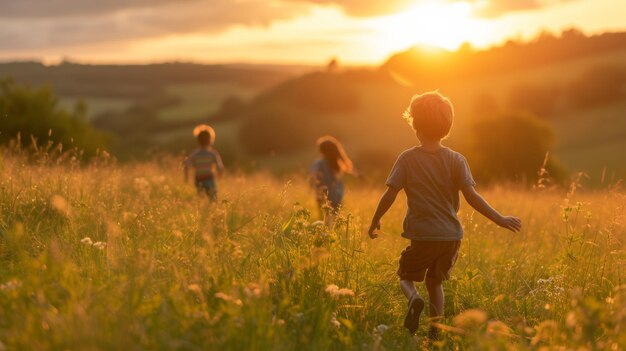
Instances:
[[[2,50],[42,49],[267,26],[310,6],[267,0],[0,1]]]

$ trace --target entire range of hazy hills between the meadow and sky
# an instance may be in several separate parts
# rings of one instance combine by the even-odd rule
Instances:
[[[93,123],[118,137],[122,159],[184,153],[190,128],[208,122],[232,166],[305,169],[317,136],[333,134],[360,168],[383,174],[416,142],[401,118],[411,95],[439,89],[455,104],[454,147],[463,150],[475,121],[526,111],[554,127],[551,151],[570,172],[626,175],[626,33],[568,30],[487,50],[413,47],[358,69],[23,62],[0,64],[6,75],[49,84],[63,104],[84,98]]]

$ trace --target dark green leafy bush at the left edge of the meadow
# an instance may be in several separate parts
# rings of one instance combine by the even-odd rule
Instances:
[[[85,157],[96,154],[107,145],[108,136],[92,128],[86,120],[83,102],[72,111],[59,106],[58,98],[48,88],[31,89],[12,79],[0,81],[0,143],[20,136],[23,146],[35,140],[38,146],[62,144],[76,148]]]

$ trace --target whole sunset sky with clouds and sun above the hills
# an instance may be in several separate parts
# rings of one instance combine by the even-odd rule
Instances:
[[[0,0],[0,60],[376,64],[571,27],[626,30],[626,1]]]

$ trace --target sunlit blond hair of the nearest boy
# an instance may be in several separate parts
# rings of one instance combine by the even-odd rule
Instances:
[[[424,136],[444,139],[452,128],[454,109],[447,97],[437,91],[429,91],[414,95],[403,117]]]

